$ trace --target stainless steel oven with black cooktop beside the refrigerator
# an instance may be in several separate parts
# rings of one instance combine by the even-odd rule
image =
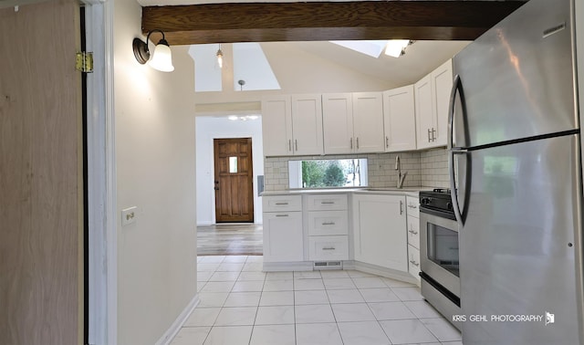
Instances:
[[[422,296],[453,322],[461,311],[458,224],[450,190],[420,192],[420,235]]]

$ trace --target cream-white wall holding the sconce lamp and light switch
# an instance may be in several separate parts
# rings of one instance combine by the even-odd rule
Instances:
[[[172,47],[174,72],[140,65],[133,0],[115,1],[113,37],[118,344],[154,344],[197,291],[193,60]],[[136,223],[121,226],[130,206]]]

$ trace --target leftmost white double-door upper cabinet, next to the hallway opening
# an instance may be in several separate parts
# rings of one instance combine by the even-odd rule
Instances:
[[[322,154],[320,95],[262,99],[262,135],[266,156]]]

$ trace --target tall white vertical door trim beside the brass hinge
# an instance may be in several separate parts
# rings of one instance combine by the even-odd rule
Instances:
[[[86,50],[94,53],[94,73],[87,75],[89,224],[89,344],[107,344],[109,322],[106,190],[106,99],[103,5],[84,0]]]

